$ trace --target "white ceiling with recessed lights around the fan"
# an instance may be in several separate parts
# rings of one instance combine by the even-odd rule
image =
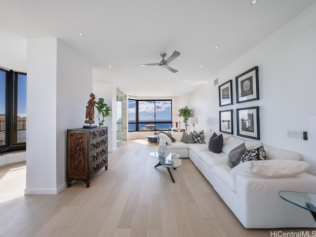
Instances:
[[[27,38],[56,37],[102,73],[95,82],[114,82],[132,96],[179,96],[213,83],[314,2],[1,0],[0,67],[26,72]],[[161,52],[168,58],[174,50],[181,55],[169,66],[177,73],[136,66],[158,63]]]

